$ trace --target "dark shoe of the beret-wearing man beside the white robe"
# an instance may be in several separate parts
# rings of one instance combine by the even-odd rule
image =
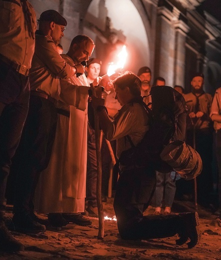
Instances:
[[[14,230],[21,233],[40,234],[46,231],[45,225],[33,220],[30,214],[14,214],[12,217]]]

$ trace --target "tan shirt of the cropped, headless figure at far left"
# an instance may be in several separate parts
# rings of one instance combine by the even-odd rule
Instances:
[[[31,13],[33,33],[36,30],[36,15],[27,1]],[[20,0],[0,0],[0,54],[16,64],[31,67],[34,39],[28,34]]]

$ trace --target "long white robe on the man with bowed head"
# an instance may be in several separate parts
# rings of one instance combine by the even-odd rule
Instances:
[[[69,56],[62,56],[67,63],[74,65]],[[39,213],[84,211],[89,83],[85,74],[62,79],[60,83],[57,107],[70,111],[70,118],[58,114],[50,162],[40,175],[36,192],[35,208]]]

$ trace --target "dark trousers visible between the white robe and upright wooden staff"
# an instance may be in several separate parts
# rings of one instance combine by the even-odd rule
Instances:
[[[95,130],[88,122],[87,125],[87,180],[86,203],[92,207],[97,206],[97,155],[95,144]]]

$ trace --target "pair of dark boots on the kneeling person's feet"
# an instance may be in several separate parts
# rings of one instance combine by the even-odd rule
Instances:
[[[180,213],[179,216],[182,226],[181,231],[178,232],[180,238],[176,240],[176,244],[182,245],[190,239],[187,245],[188,248],[193,248],[200,240],[199,215],[197,212],[187,212]]]

